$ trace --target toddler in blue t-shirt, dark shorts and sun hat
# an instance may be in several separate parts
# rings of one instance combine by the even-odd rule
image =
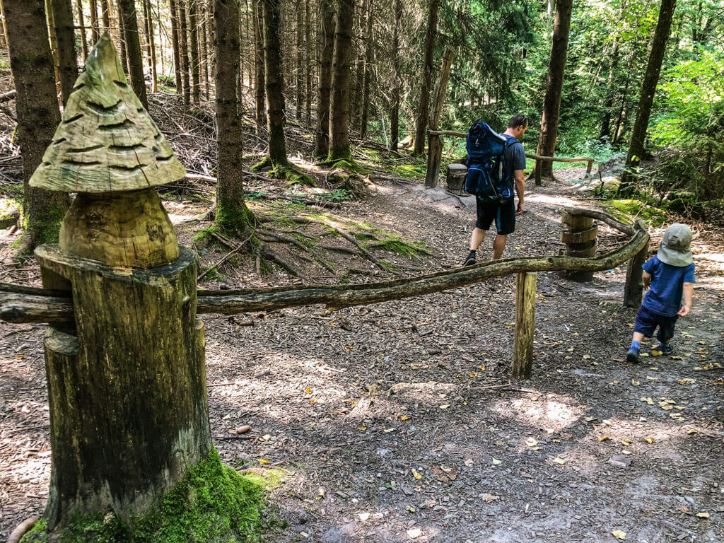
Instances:
[[[651,285],[633,327],[633,340],[626,353],[626,361],[639,363],[641,340],[656,334],[660,352],[673,352],[670,340],[674,335],[674,324],[680,316],[691,311],[694,295],[694,259],[691,258],[691,229],[686,224],[675,222],[664,232],[656,255],[643,266],[644,287]],[[683,305],[681,298],[683,295]]]

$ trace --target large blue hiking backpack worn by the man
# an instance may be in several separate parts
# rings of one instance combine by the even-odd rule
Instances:
[[[505,149],[517,142],[515,138],[498,134],[481,120],[473,122],[466,144],[466,193],[489,202],[505,202],[513,198],[513,179],[506,164]]]

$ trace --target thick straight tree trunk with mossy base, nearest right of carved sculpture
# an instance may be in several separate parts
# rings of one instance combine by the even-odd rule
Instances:
[[[230,235],[245,235],[251,213],[244,203],[240,101],[239,6],[214,0],[216,52],[216,224]]]

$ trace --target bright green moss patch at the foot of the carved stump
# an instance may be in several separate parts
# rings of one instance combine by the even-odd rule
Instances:
[[[260,480],[242,476],[222,464],[219,453],[189,470],[164,497],[160,507],[130,526],[113,513],[73,519],[58,534],[58,543],[261,543],[264,489],[280,476]],[[263,483],[263,484],[262,484]],[[21,543],[49,543],[45,521],[25,534]]]

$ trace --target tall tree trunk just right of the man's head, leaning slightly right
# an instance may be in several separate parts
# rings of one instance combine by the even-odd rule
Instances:
[[[536,154],[553,156],[555,140],[558,135],[558,117],[560,114],[560,97],[563,91],[563,72],[565,57],[568,50],[568,31],[571,29],[571,11],[573,0],[557,0],[555,21],[553,22],[553,40],[548,62],[548,77],[541,117],[541,132],[538,139]],[[541,185],[541,178],[553,176],[552,161],[536,160],[534,175],[536,185]]]

